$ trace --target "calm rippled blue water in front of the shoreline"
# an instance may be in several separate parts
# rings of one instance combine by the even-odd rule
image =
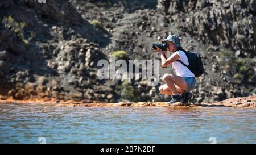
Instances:
[[[255,114],[224,107],[0,104],[0,143],[40,143],[39,137],[46,143],[256,143]]]

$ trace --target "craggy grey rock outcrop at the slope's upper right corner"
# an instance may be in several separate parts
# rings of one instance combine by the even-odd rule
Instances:
[[[255,56],[256,1],[158,0],[170,22],[204,44],[230,48],[237,56]]]

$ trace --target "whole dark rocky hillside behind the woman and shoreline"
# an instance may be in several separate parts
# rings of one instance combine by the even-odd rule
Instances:
[[[164,101],[146,81],[102,81],[113,51],[159,59],[151,43],[170,33],[203,57],[191,102],[255,95],[255,1],[0,2],[1,99]],[[159,77],[172,73],[160,69]],[[89,101],[88,101],[89,102]]]

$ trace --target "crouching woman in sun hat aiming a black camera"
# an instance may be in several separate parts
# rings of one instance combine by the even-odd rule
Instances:
[[[169,35],[162,44],[152,44],[152,50],[159,52],[161,57],[161,66],[166,68],[172,65],[175,74],[164,74],[163,80],[166,84],[159,87],[160,93],[172,95],[172,100],[167,104],[176,102],[188,103],[192,98],[189,93],[195,88],[195,74],[189,69],[189,60],[187,52],[180,45],[180,38],[176,35]],[[171,52],[170,57],[166,53]],[[202,73],[203,74],[203,73]]]

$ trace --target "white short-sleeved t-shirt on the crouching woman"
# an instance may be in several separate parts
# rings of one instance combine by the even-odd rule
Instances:
[[[180,56],[179,60],[181,60],[184,64],[189,65],[188,58],[187,58],[185,52],[179,50],[175,53],[177,53],[177,55]],[[193,74],[186,66],[181,64],[179,61],[172,62],[172,68],[174,68],[177,76],[195,77],[195,74]]]

